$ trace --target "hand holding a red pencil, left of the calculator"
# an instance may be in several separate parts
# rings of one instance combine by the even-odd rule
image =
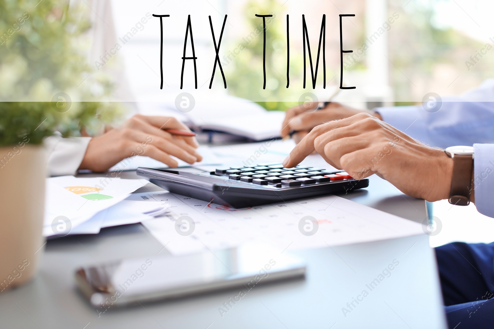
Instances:
[[[190,131],[174,117],[134,115],[121,127],[93,137],[79,169],[103,172],[134,155],[149,156],[170,167],[178,165],[170,155],[191,164],[203,159],[194,137],[174,136],[164,129]]]

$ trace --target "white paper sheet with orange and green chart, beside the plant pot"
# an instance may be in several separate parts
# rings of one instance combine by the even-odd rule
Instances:
[[[76,228],[79,225],[102,210],[124,200],[131,192],[147,183],[149,182],[146,180],[109,177],[47,178],[43,235],[64,236],[71,234],[72,230],[77,232]],[[101,219],[95,219],[95,221],[98,220]],[[95,226],[91,225],[90,230],[96,230]]]

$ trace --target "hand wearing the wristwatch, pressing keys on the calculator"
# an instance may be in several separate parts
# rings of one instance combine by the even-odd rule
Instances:
[[[403,193],[431,202],[450,195],[453,159],[371,114],[360,113],[315,127],[283,165],[291,168],[314,150],[355,179],[377,174]]]

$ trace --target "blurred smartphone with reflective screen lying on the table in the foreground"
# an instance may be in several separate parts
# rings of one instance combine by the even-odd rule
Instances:
[[[304,278],[305,262],[261,244],[185,256],[124,259],[76,271],[76,283],[95,307],[176,298]]]

